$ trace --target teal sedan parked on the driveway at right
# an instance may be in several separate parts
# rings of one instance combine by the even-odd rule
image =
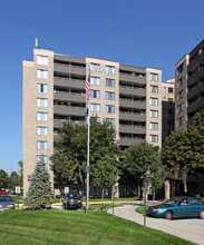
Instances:
[[[195,197],[174,197],[161,205],[149,206],[146,215],[166,219],[183,217],[204,218],[204,203]]]

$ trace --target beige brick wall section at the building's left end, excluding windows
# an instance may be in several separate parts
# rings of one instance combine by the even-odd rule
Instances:
[[[37,56],[48,58],[48,65],[37,63]],[[48,71],[47,78],[37,78],[37,70]],[[38,92],[38,85],[47,85],[47,92]],[[47,107],[38,107],[37,99],[47,99]],[[46,112],[46,121],[37,119],[37,112]],[[37,127],[47,128],[47,135],[37,135]],[[47,149],[38,149],[37,141],[47,141]],[[37,156],[49,158],[54,153],[54,52],[35,49],[33,62],[23,61],[23,190],[29,187]],[[54,185],[54,173],[50,160],[47,163],[50,180]]]

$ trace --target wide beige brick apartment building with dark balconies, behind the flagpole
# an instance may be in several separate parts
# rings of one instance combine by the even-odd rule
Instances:
[[[62,122],[84,124],[89,72],[90,116],[114,125],[120,148],[145,139],[162,146],[161,69],[35,49],[33,61],[23,61],[25,194],[39,157],[51,165],[49,156]],[[54,171],[48,170],[54,185]]]

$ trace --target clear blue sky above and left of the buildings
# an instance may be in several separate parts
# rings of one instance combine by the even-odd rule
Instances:
[[[42,49],[163,70],[204,38],[203,0],[8,0],[0,3],[0,169],[22,159],[22,60]]]

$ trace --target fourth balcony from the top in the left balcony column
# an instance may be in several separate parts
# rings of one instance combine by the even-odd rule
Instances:
[[[54,114],[61,116],[85,116],[84,107],[70,107],[70,106],[54,106]]]

